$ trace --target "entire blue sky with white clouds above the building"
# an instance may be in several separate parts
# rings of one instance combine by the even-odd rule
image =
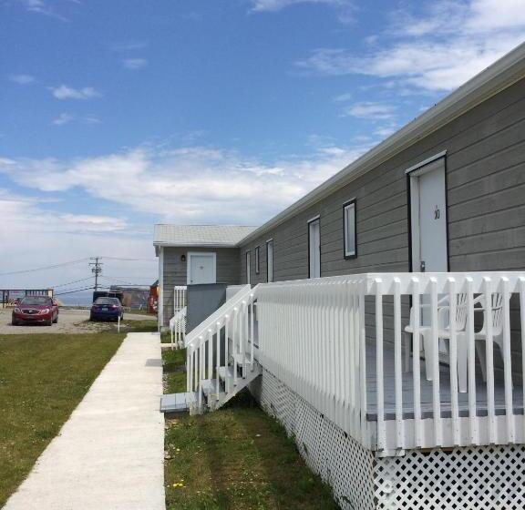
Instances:
[[[259,225],[523,41],[525,0],[0,0],[0,289],[150,283],[155,223]]]

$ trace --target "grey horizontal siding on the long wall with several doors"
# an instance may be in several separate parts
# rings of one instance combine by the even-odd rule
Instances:
[[[450,270],[525,268],[525,80],[489,98],[396,157],[355,179],[257,240],[252,283],[267,280],[265,241],[273,238],[274,280],[308,278],[308,219],[321,216],[321,276],[407,271],[406,169],[447,150]],[[357,257],[345,260],[343,204],[356,199]],[[261,272],[255,274],[255,246]],[[245,260],[241,260],[242,282]]]

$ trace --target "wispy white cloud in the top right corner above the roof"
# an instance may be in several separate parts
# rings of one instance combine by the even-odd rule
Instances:
[[[525,40],[524,0],[438,0],[424,15],[397,12],[388,40],[365,55],[319,48],[298,66],[317,74],[360,74],[427,91],[448,91]]]

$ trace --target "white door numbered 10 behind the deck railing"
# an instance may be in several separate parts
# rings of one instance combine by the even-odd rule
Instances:
[[[410,172],[412,270],[447,272],[445,158]]]

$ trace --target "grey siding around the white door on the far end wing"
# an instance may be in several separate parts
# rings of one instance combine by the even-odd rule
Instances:
[[[217,257],[217,282],[237,285],[240,282],[240,260],[237,248],[164,248],[164,325],[167,326],[173,317],[173,288],[176,285],[186,285],[188,264],[180,260],[188,252],[214,252]]]

